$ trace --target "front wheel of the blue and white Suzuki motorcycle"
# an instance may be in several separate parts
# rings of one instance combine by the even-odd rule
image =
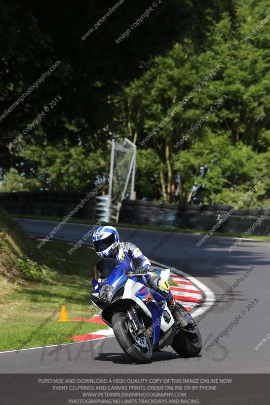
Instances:
[[[147,363],[152,358],[152,346],[146,331],[137,335],[126,312],[115,313],[111,318],[112,328],[124,352],[137,363]]]

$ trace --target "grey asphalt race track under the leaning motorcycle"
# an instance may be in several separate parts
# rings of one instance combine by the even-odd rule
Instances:
[[[32,220],[23,220],[21,224],[29,234],[38,236],[46,236],[56,225]],[[90,228],[90,225],[65,224],[56,238],[76,242]],[[121,239],[125,240],[133,231],[119,228]],[[201,236],[175,233],[164,242],[162,249],[149,256],[165,236],[165,232],[140,230],[132,241],[150,260],[196,277],[215,293],[216,298],[254,266],[244,281],[239,282],[233,295],[226,296],[203,319],[197,318],[204,346],[199,357],[184,359],[168,347],[154,353],[151,363],[134,365],[129,363],[112,337],[65,345],[51,357],[48,353],[52,348],[0,353],[1,373],[269,373],[270,340],[258,350],[254,349],[270,334],[269,242],[244,241],[234,252],[228,253],[226,249],[233,244],[232,238],[213,236],[198,247],[196,243]],[[248,307],[251,301],[258,303],[251,308],[252,305]],[[242,316],[238,324],[235,321],[229,333],[206,351],[205,347],[238,315]]]

